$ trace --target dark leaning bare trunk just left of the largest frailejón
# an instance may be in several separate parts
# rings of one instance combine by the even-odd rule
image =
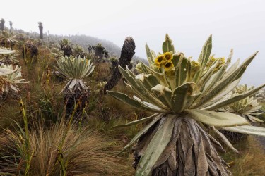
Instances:
[[[122,78],[122,74],[119,73],[118,65],[121,65],[122,68],[126,68],[126,65],[131,63],[131,58],[135,54],[135,43],[132,37],[126,37],[124,44],[122,46],[121,57],[119,58],[119,62],[114,68],[113,75],[110,80],[107,81],[107,84],[104,87],[104,94],[107,93],[107,90],[112,89]]]

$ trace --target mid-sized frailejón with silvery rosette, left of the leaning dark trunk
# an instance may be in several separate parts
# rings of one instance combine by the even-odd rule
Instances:
[[[66,101],[66,113],[70,115],[73,108],[78,102],[79,110],[81,111],[88,100],[89,90],[83,79],[93,73],[94,66],[90,59],[65,56],[59,58],[56,69],[61,75],[69,80],[64,89],[64,99]],[[76,112],[78,116],[78,112]]]

